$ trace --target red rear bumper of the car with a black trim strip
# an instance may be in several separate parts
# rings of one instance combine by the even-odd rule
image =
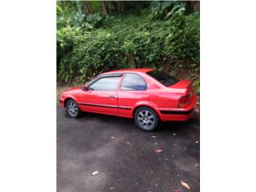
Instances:
[[[159,115],[162,121],[186,121],[193,115],[194,106],[198,101],[198,97],[194,95],[191,98],[190,104],[185,108],[158,108]]]

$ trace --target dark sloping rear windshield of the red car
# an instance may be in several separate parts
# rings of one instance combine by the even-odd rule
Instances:
[[[150,72],[147,72],[146,74],[150,75],[152,78],[158,80],[158,82],[161,82],[164,86],[172,86],[175,83],[179,82],[177,78],[174,78],[173,76],[170,76],[164,71],[160,70],[151,70]]]

